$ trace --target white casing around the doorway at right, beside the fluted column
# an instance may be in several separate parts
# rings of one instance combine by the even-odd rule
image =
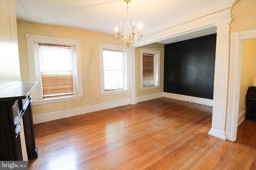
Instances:
[[[256,39],[256,29],[231,33],[230,39],[230,69],[225,134],[228,140],[236,141],[240,107],[242,45],[243,41]]]

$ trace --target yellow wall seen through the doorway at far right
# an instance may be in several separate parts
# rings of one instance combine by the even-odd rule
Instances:
[[[242,66],[241,66],[239,113],[244,110],[244,106],[247,106],[246,95],[248,92],[248,88],[252,85],[252,77],[256,76],[255,45],[256,45],[255,39],[243,41],[243,44],[242,44]]]

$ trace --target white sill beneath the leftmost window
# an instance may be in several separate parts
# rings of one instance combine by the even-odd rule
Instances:
[[[38,101],[32,101],[32,104],[39,105],[39,104],[48,104],[48,103],[54,103],[54,102],[64,102],[68,100],[82,99],[83,97],[84,96],[72,95],[72,96],[44,98],[44,99],[39,99]]]

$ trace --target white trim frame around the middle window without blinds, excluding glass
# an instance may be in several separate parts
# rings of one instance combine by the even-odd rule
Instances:
[[[118,45],[109,45],[99,43],[99,63],[100,63],[100,96],[110,95],[110,94],[119,94],[130,92],[130,51],[127,47],[118,46]],[[103,66],[103,50],[114,50],[114,51],[123,51],[124,59],[123,59],[123,89],[117,90],[105,90],[104,87],[104,66]]]

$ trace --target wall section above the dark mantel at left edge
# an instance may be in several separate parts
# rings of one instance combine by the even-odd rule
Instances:
[[[0,0],[0,85],[20,80],[15,0]]]

